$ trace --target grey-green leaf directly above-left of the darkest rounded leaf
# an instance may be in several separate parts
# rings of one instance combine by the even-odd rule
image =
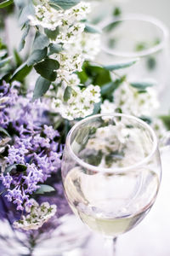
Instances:
[[[44,49],[35,49],[29,56],[27,60],[27,65],[32,66],[37,62],[42,61],[47,56],[47,53],[48,53],[47,47]]]

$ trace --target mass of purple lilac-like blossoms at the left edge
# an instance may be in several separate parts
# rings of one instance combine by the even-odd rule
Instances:
[[[31,207],[31,195],[39,184],[60,168],[59,132],[44,124],[44,119],[40,122],[45,111],[40,108],[42,104],[32,104],[29,97],[18,96],[14,86],[0,86],[0,104],[5,106],[0,112],[3,128],[12,125],[14,130],[13,143],[8,144],[8,154],[4,156],[10,171],[2,172],[0,179],[7,189],[7,200],[23,211],[25,205]]]

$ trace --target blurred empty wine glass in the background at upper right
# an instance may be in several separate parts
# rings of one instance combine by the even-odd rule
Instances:
[[[161,95],[167,85],[169,68],[169,32],[161,20],[150,15],[129,14],[107,18],[99,24],[102,31],[99,63],[110,65],[137,60],[127,67],[130,81],[155,81]],[[164,65],[162,65],[164,63]],[[120,75],[124,70],[116,71]]]

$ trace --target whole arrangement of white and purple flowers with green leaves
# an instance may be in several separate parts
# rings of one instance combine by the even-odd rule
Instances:
[[[152,123],[161,136],[161,120],[150,119],[156,91],[153,84],[130,83],[116,73],[138,60],[110,66],[96,61],[102,32],[88,21],[93,3],[7,0],[0,9],[17,12],[23,33],[14,56],[0,43],[1,199],[14,212],[14,230],[41,230],[50,220],[56,228],[59,217],[70,212],[60,162],[71,125],[116,111]],[[24,48],[28,53],[21,57]],[[36,81],[34,89],[30,80]],[[8,218],[6,207],[2,218]]]

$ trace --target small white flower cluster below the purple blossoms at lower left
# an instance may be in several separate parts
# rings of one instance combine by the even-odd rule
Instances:
[[[55,205],[49,205],[48,202],[43,202],[40,206],[37,201],[31,201],[32,206],[26,207],[26,216],[22,216],[20,220],[14,222],[15,229],[22,230],[37,230],[42,227],[42,224],[52,218],[57,211]]]

